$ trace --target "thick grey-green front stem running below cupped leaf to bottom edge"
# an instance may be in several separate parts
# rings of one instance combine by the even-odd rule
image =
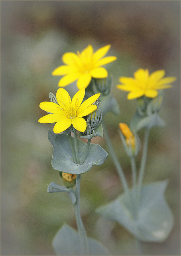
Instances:
[[[81,174],[76,176],[76,197],[77,202],[75,204],[75,216],[77,222],[77,229],[79,232],[80,246],[81,246],[81,255],[89,255],[89,244],[87,239],[87,234],[81,219],[80,211],[80,185],[81,185]]]

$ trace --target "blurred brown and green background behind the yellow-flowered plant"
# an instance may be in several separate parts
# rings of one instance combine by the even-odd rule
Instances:
[[[180,1],[1,1],[1,255],[55,255],[52,239],[66,222],[76,228],[65,193],[47,193],[47,184],[61,183],[51,167],[52,124],[37,120],[45,114],[39,103],[56,93],[60,77],[51,72],[65,52],[94,50],[111,44],[106,66],[120,115],[106,115],[115,151],[131,182],[129,158],[118,123],[129,124],[136,100],[116,89],[120,76],[138,68],[164,69],[177,76],[165,91],[160,116],[164,128],[153,128],[144,183],[168,179],[165,198],[175,226],[162,244],[141,243],[143,255],[180,255]],[[71,96],[75,83],[66,87]],[[142,141],[142,132],[139,133]],[[107,150],[104,138],[92,140]],[[140,162],[140,155],[137,164]],[[102,166],[82,175],[81,212],[88,236],[113,255],[134,255],[134,237],[117,223],[95,213],[98,206],[122,193],[110,156]]]

